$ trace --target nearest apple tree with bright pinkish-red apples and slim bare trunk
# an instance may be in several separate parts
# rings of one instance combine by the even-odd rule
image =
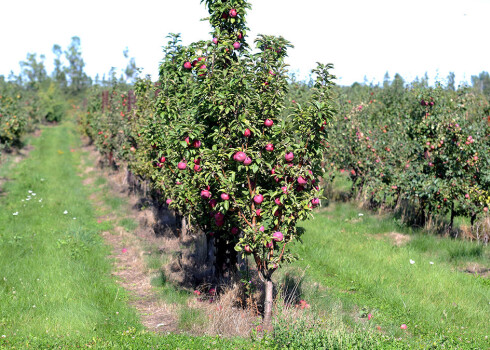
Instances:
[[[251,255],[265,284],[264,323],[272,316],[272,274],[294,257],[296,224],[320,203],[325,126],[333,115],[331,65],[318,65],[311,99],[282,117],[291,44],[261,35],[245,41],[246,0],[203,0],[213,38],[169,45],[161,93],[146,131],[167,203],[216,239],[217,267],[231,250]],[[178,38],[177,38],[178,39]]]

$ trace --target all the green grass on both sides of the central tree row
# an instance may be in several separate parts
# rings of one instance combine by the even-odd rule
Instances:
[[[70,151],[79,146],[74,130],[70,122],[44,128],[42,136],[31,141],[34,150],[28,158],[0,168],[0,176],[11,179],[0,197],[0,349],[488,345],[490,283],[460,272],[470,263],[488,267],[488,247],[411,230],[388,215],[371,215],[348,203],[333,204],[303,223],[304,244],[293,247],[301,258],[277,277],[312,308],[291,320],[278,319],[275,338],[251,343],[146,332],[128,306],[129,296],[110,276],[110,249],[100,233],[114,223],[96,217],[110,212],[127,231],[137,224],[121,214],[124,201],[106,189],[105,208],[94,208],[87,200],[94,190],[84,187],[77,175],[82,153]],[[106,182],[97,178],[92,186]],[[394,245],[386,236],[392,232],[410,240]],[[158,270],[164,257],[156,254],[157,247],[147,250],[152,252],[148,269]],[[189,292],[173,286],[164,274],[152,284],[166,302],[181,306],[181,329],[203,322],[199,310],[186,307]],[[367,314],[372,315],[370,321]],[[408,329],[401,330],[401,324]]]

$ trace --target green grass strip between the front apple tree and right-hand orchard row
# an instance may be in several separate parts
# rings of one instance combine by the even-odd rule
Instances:
[[[328,311],[341,301],[344,322],[352,326],[371,313],[368,324],[394,337],[442,336],[461,346],[488,345],[489,284],[458,271],[469,262],[488,267],[488,247],[403,229],[389,216],[370,215],[352,204],[318,212],[303,227],[304,244],[293,249],[301,258],[289,273],[307,268],[309,288],[302,293],[315,309]],[[411,241],[396,246],[381,235],[391,232],[409,234]]]

